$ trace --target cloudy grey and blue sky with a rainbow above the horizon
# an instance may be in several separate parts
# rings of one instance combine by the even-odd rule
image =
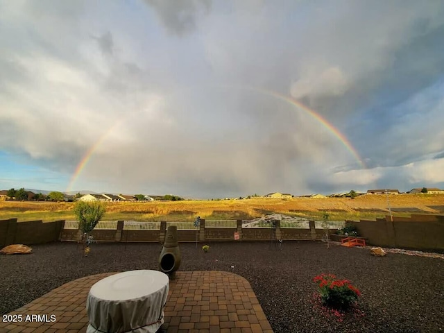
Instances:
[[[444,187],[443,1],[0,0],[0,189]]]

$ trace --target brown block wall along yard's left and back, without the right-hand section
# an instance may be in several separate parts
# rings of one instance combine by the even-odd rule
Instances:
[[[42,244],[50,241],[79,241],[81,231],[72,228],[72,223],[55,222],[17,222],[17,219],[0,221],[0,246],[10,244]],[[130,223],[128,223],[130,224]],[[184,223],[192,224],[192,223]],[[128,242],[160,242],[163,243],[167,231],[167,222],[160,222],[160,228],[150,230],[133,230],[125,228],[124,221],[114,223],[115,228],[96,228],[92,231],[94,241],[128,241]],[[234,225],[234,224],[232,224]],[[207,227],[205,219],[200,219],[198,228],[189,230],[178,228],[178,240],[192,241],[234,241],[234,232],[239,233],[239,240],[255,241],[269,239],[321,239],[323,230],[315,230],[314,221],[309,228],[280,228],[280,221],[275,221],[275,229],[271,228],[242,228],[242,221],[236,221],[236,228]],[[271,224],[272,225],[272,224]],[[335,230],[330,230],[334,232]]]

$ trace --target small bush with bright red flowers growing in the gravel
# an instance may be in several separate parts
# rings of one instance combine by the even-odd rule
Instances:
[[[348,309],[361,296],[359,289],[349,280],[339,280],[333,274],[323,273],[316,276],[313,282],[318,284],[323,305],[335,309]]]

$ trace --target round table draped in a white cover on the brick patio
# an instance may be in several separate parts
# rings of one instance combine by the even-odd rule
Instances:
[[[87,333],[155,333],[164,323],[169,278],[159,271],[128,271],[94,284],[87,298]]]

